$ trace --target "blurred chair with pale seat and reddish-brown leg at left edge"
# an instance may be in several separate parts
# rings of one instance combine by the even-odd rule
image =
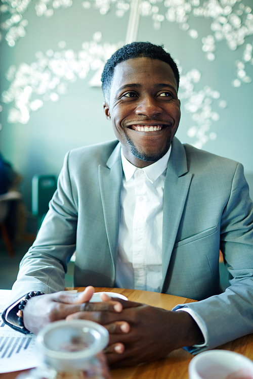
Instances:
[[[10,206],[12,202],[17,202],[21,199],[21,194],[17,191],[10,191],[4,195],[0,195],[0,229],[2,232],[3,240],[10,257],[15,256],[15,252],[8,234],[5,221],[9,215]]]

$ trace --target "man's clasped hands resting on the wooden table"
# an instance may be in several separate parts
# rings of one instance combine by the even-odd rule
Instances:
[[[101,302],[89,303],[93,293],[94,288],[89,286],[77,294],[62,291],[31,298],[24,308],[25,327],[37,334],[48,323],[62,319],[98,322],[109,331],[105,353],[113,366],[156,360],[188,342],[191,344],[191,328],[196,324],[188,313],[110,298],[106,294],[101,295]],[[196,338],[192,336],[193,343]]]

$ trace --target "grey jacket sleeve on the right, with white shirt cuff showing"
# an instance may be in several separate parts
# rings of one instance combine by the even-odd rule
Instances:
[[[241,164],[237,165],[221,216],[220,246],[230,287],[220,295],[174,308],[192,309],[206,326],[207,344],[189,348],[193,353],[253,333],[253,206]]]

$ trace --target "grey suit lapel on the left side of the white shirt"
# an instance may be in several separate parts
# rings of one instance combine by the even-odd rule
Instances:
[[[99,165],[99,185],[109,248],[112,260],[116,262],[122,185],[120,144],[108,159],[107,167]]]

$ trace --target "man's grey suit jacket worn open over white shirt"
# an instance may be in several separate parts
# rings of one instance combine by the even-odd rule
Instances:
[[[118,141],[69,152],[37,239],[21,262],[14,298],[74,285],[113,287],[122,166]],[[196,300],[208,348],[253,332],[253,210],[242,165],[174,138],[164,184],[162,292]],[[219,250],[231,287],[220,293]],[[14,300],[14,299],[13,299]]]

